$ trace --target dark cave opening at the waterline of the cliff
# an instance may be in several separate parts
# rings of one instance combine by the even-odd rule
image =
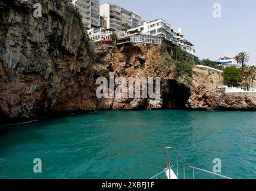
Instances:
[[[187,109],[186,104],[191,96],[189,87],[172,79],[166,82],[164,90],[163,109]]]

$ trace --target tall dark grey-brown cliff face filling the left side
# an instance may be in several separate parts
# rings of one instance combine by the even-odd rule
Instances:
[[[79,14],[65,1],[40,1],[42,17],[35,18],[36,2],[0,2],[1,121],[96,109],[92,53]]]

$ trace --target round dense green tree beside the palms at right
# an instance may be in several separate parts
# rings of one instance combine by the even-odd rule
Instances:
[[[225,85],[237,86],[243,81],[243,74],[236,66],[229,66],[223,70],[223,78]]]

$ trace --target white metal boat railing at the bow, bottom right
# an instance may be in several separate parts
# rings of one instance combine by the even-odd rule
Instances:
[[[170,160],[170,151],[173,151],[175,154],[176,154],[176,177],[179,177],[179,165],[178,165],[178,159],[181,159],[182,161],[182,164],[183,164],[183,176],[182,178],[185,179],[186,178],[186,171],[185,171],[185,168],[188,167],[190,168],[192,171],[193,171],[193,179],[195,179],[195,172],[196,171],[200,171],[200,172],[205,172],[206,174],[211,174],[211,175],[215,175],[217,177],[220,177],[221,179],[232,179],[230,177],[227,177],[225,175],[221,175],[221,174],[218,174],[218,173],[215,173],[215,172],[211,172],[211,171],[207,171],[207,170],[203,170],[202,168],[196,168],[196,167],[193,167],[191,166],[190,164],[188,164],[187,161],[185,161],[184,158],[182,158],[181,155],[179,155],[179,153],[172,147],[166,147],[164,148],[164,154],[165,154],[165,169],[161,172],[159,172],[158,174],[154,175],[153,177],[151,177],[150,179],[155,179],[157,177],[159,177],[159,175],[161,174],[165,174],[166,172],[169,172],[170,173],[170,170],[173,170],[173,164],[172,164],[172,161]],[[169,171],[168,171],[169,170]],[[169,177],[170,177],[170,174],[169,174]]]

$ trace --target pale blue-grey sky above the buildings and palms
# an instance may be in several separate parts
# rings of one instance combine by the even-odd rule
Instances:
[[[146,21],[161,18],[175,30],[181,27],[200,59],[234,57],[246,51],[249,63],[256,65],[255,0],[100,0],[100,5],[106,2],[133,11]],[[221,4],[221,18],[212,16],[215,3]]]

